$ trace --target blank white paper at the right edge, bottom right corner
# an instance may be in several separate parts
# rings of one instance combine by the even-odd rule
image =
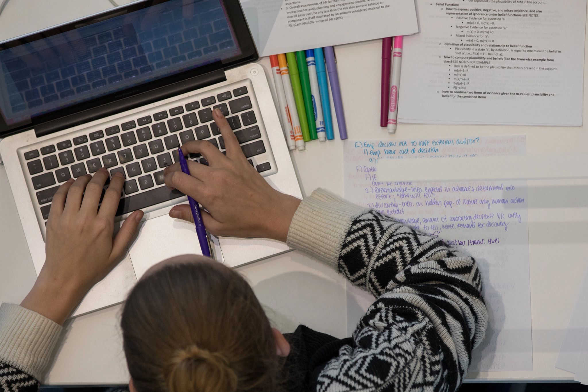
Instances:
[[[588,269],[555,367],[575,373],[574,380],[588,385]]]

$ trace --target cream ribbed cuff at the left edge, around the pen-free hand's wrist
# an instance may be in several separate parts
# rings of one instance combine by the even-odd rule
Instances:
[[[0,360],[42,381],[63,327],[35,311],[0,306]]]

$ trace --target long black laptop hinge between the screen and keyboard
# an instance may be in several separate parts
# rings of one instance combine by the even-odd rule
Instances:
[[[158,100],[180,95],[185,92],[193,91],[224,81],[226,81],[226,76],[223,69],[212,71],[206,73],[205,75],[184,79],[183,81],[162,86],[151,91],[138,93],[136,95],[129,95],[125,98],[104,103],[92,109],[83,110],[82,112],[39,124],[35,126],[35,135],[39,138],[62,129],[71,128],[72,126],[105,118],[116,113],[124,112],[125,110],[138,108],[139,106],[147,105],[151,102],[156,102]]]

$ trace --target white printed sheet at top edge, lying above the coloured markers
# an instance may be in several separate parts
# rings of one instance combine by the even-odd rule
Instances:
[[[419,31],[414,0],[240,1],[261,56]]]

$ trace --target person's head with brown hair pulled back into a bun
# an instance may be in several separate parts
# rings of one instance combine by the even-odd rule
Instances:
[[[148,270],[121,327],[133,392],[273,391],[289,353],[245,279],[201,256]]]

